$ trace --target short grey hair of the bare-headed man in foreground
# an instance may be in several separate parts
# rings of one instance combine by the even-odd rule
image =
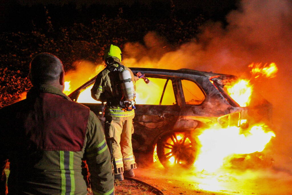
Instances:
[[[29,65],[32,85],[49,84],[59,78],[64,71],[61,60],[51,53],[40,53]]]

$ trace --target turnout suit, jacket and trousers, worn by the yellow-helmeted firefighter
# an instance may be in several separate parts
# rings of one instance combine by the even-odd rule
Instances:
[[[97,75],[91,89],[91,96],[95,100],[107,102],[105,107],[105,134],[107,138],[114,139],[112,147],[117,167],[115,174],[119,174],[123,173],[124,170],[136,168],[131,141],[134,132],[132,121],[135,111],[134,109],[127,111],[120,106],[121,86],[119,72],[115,71],[119,64],[110,66],[114,67],[106,67]],[[130,72],[134,88],[136,88],[135,81],[138,80],[138,77],[134,76],[128,67],[124,66],[124,69]]]

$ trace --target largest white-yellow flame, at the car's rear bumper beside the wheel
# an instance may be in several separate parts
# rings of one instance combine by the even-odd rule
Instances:
[[[201,148],[194,166],[198,171],[215,172],[228,166],[230,155],[262,152],[272,137],[274,132],[264,125],[253,126],[243,134],[239,127],[220,128],[216,124],[198,136]]]

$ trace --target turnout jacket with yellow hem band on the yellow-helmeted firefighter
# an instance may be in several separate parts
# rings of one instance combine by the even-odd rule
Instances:
[[[131,69],[124,66],[125,70],[128,70],[132,77],[132,82],[136,90],[136,81],[138,80],[137,76],[134,76]],[[111,72],[109,69],[103,69],[96,77],[95,83],[91,89],[91,97],[95,100],[101,102],[107,102],[105,109],[105,117],[111,117],[113,120],[122,120],[122,119],[133,119],[135,116],[134,109],[132,111],[126,111],[119,105],[121,91],[119,75],[117,71]],[[110,102],[110,104],[109,104]]]

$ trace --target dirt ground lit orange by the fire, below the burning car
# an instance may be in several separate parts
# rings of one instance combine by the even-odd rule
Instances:
[[[135,174],[136,179],[153,185],[165,195],[292,195],[292,175],[276,173],[272,169],[237,175],[208,175],[193,173],[192,170],[166,170],[154,164],[151,167],[139,167]],[[127,194],[129,185],[133,186],[128,182],[116,185],[116,194]],[[128,194],[149,192],[137,190],[131,190],[133,193]]]

